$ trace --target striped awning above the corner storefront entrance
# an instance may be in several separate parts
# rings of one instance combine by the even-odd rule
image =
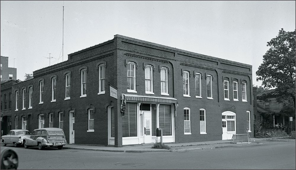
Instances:
[[[176,98],[172,97],[155,97],[155,96],[144,96],[144,95],[131,95],[131,94],[122,94],[126,101],[147,101],[155,103],[177,103]]]

